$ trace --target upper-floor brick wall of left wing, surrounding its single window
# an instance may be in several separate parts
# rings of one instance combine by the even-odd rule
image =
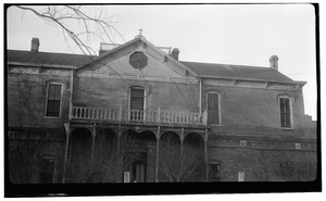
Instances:
[[[54,74],[53,74],[54,72]],[[10,126],[62,126],[68,117],[70,71],[8,74],[8,122]],[[46,117],[49,83],[63,84],[60,117]]]

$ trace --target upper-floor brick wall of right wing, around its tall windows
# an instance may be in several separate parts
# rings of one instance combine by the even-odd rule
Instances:
[[[301,89],[272,90],[246,87],[203,86],[202,108],[206,108],[206,92],[221,95],[221,126],[213,133],[266,133],[300,138],[315,138],[315,134],[303,130],[304,109]],[[294,129],[280,128],[278,96],[287,95],[292,102]]]

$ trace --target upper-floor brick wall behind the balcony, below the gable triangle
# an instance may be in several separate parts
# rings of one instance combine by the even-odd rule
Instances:
[[[173,112],[198,112],[199,90],[197,85],[175,83],[149,83],[142,80],[76,77],[74,105],[99,108],[128,108],[129,89],[140,86],[146,89],[146,109]]]

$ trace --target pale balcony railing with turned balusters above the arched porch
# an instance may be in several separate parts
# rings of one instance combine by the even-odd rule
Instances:
[[[206,113],[184,113],[158,110],[126,110],[73,106],[73,120],[99,120],[135,123],[167,123],[167,124],[195,124],[205,125]]]

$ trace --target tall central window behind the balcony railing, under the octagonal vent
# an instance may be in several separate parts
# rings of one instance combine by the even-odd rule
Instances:
[[[145,108],[145,90],[142,88],[130,89],[130,121],[142,121]]]

